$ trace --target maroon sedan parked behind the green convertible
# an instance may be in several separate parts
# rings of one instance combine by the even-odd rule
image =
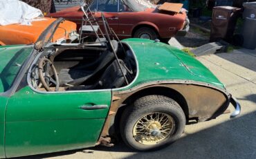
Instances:
[[[90,9],[99,20],[101,12],[107,17],[109,25],[120,39],[138,37],[144,39],[170,39],[175,35],[185,35],[189,29],[189,20],[185,10],[170,12],[148,8],[136,0],[94,0]],[[85,8],[86,10],[86,8]],[[80,6],[55,12],[48,17],[64,17],[81,27],[82,12]]]

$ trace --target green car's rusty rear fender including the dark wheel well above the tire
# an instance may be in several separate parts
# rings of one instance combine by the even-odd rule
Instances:
[[[122,113],[122,108],[132,106],[139,97],[152,94],[171,97],[181,105],[188,121],[199,122],[217,118],[226,111],[231,98],[225,89],[187,80],[148,82],[127,91],[113,90],[111,108],[101,136],[115,133],[113,123],[118,121],[116,118]]]

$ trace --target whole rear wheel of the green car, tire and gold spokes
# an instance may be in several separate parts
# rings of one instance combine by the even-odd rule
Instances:
[[[120,121],[122,140],[138,151],[158,149],[177,140],[185,128],[181,106],[163,95],[141,97]]]

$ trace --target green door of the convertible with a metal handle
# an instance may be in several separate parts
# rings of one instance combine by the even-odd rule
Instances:
[[[111,91],[44,94],[27,86],[8,102],[6,156],[94,146],[110,104]]]

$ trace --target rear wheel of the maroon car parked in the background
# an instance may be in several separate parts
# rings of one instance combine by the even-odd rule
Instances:
[[[141,38],[141,39],[152,39],[152,40],[158,38],[156,32],[152,28],[148,28],[148,27],[138,28],[138,30],[136,30],[136,32],[134,33],[134,37]]]

